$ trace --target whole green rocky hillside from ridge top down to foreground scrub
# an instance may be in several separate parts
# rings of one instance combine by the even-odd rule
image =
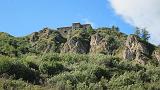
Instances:
[[[159,47],[114,26],[73,26],[24,37],[1,32],[0,89],[160,89]]]

